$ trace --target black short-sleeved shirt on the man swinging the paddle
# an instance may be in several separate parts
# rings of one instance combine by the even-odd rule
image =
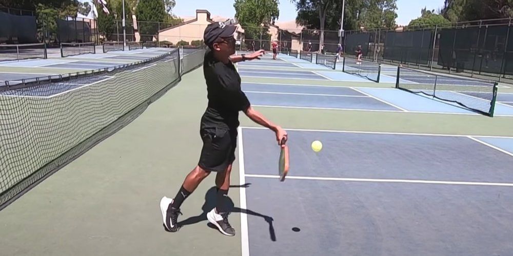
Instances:
[[[207,83],[208,106],[203,114],[202,127],[224,127],[236,130],[239,111],[246,111],[249,100],[241,90],[241,77],[230,61],[216,60],[207,49],[203,61],[203,74]]]

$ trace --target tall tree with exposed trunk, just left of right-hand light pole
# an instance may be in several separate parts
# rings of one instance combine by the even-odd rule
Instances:
[[[296,22],[301,24],[303,19],[301,17],[312,16],[316,13],[319,18],[319,45],[324,45],[324,28],[326,26],[326,16],[330,9],[337,7],[335,0],[292,0],[298,10],[298,17]]]

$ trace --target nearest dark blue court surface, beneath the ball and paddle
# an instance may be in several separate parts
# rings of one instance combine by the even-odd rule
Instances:
[[[242,255],[513,251],[513,138],[286,130],[280,182],[274,134],[240,129]]]

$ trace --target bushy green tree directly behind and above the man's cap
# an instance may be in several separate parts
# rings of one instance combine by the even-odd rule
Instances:
[[[270,39],[264,27],[280,16],[278,0],[235,0],[235,18],[244,28],[247,39]]]

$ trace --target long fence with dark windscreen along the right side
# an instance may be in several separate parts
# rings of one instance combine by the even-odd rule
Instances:
[[[347,31],[345,54],[393,65],[513,81],[513,19],[476,20],[402,30]]]

